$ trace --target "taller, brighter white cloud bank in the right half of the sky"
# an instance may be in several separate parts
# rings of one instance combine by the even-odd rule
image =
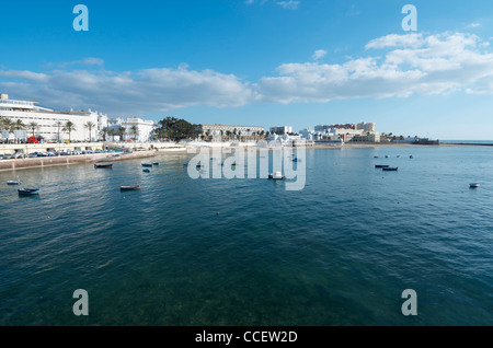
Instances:
[[[277,77],[254,85],[273,103],[329,102],[335,98],[405,97],[412,94],[492,93],[493,54],[483,53],[475,35],[387,35],[366,45],[382,57],[349,58],[341,65],[285,63]]]

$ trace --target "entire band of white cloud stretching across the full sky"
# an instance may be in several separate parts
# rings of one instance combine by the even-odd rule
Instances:
[[[3,69],[0,91],[47,106],[91,107],[125,115],[194,105],[324,103],[456,91],[493,94],[493,54],[486,44],[477,35],[463,33],[391,34],[370,40],[363,57],[346,57],[340,63],[287,62],[257,81],[213,70],[196,71],[186,63],[126,72],[107,71],[100,65],[93,65],[93,70],[69,69],[74,67],[66,65],[48,72]],[[324,54],[318,50],[313,58]],[[95,58],[91,61],[102,62]]]

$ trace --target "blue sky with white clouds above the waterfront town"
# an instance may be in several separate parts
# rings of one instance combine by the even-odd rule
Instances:
[[[89,9],[76,32],[72,9]],[[404,4],[417,32],[404,32]],[[493,2],[2,3],[0,91],[108,116],[493,139]]]

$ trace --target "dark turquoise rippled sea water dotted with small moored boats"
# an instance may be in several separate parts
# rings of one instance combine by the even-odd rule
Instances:
[[[493,325],[493,149],[308,150],[300,192],[190,158],[0,173],[0,325]]]

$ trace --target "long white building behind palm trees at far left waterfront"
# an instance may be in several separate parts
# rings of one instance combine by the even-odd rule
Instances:
[[[41,107],[31,101],[19,101],[9,98],[8,94],[0,94],[0,117],[8,118],[15,123],[21,120],[25,126],[25,134],[16,131],[2,131],[2,136],[8,135],[9,139],[25,141],[26,137],[33,136],[30,124],[36,124],[34,136],[43,138],[44,141],[88,141],[98,140],[100,124],[104,123],[106,115],[84,111],[60,112],[51,108]],[[71,121],[73,129],[69,132],[64,130],[66,124]],[[88,125],[93,125],[88,127]],[[3,137],[4,138],[4,137]]]

